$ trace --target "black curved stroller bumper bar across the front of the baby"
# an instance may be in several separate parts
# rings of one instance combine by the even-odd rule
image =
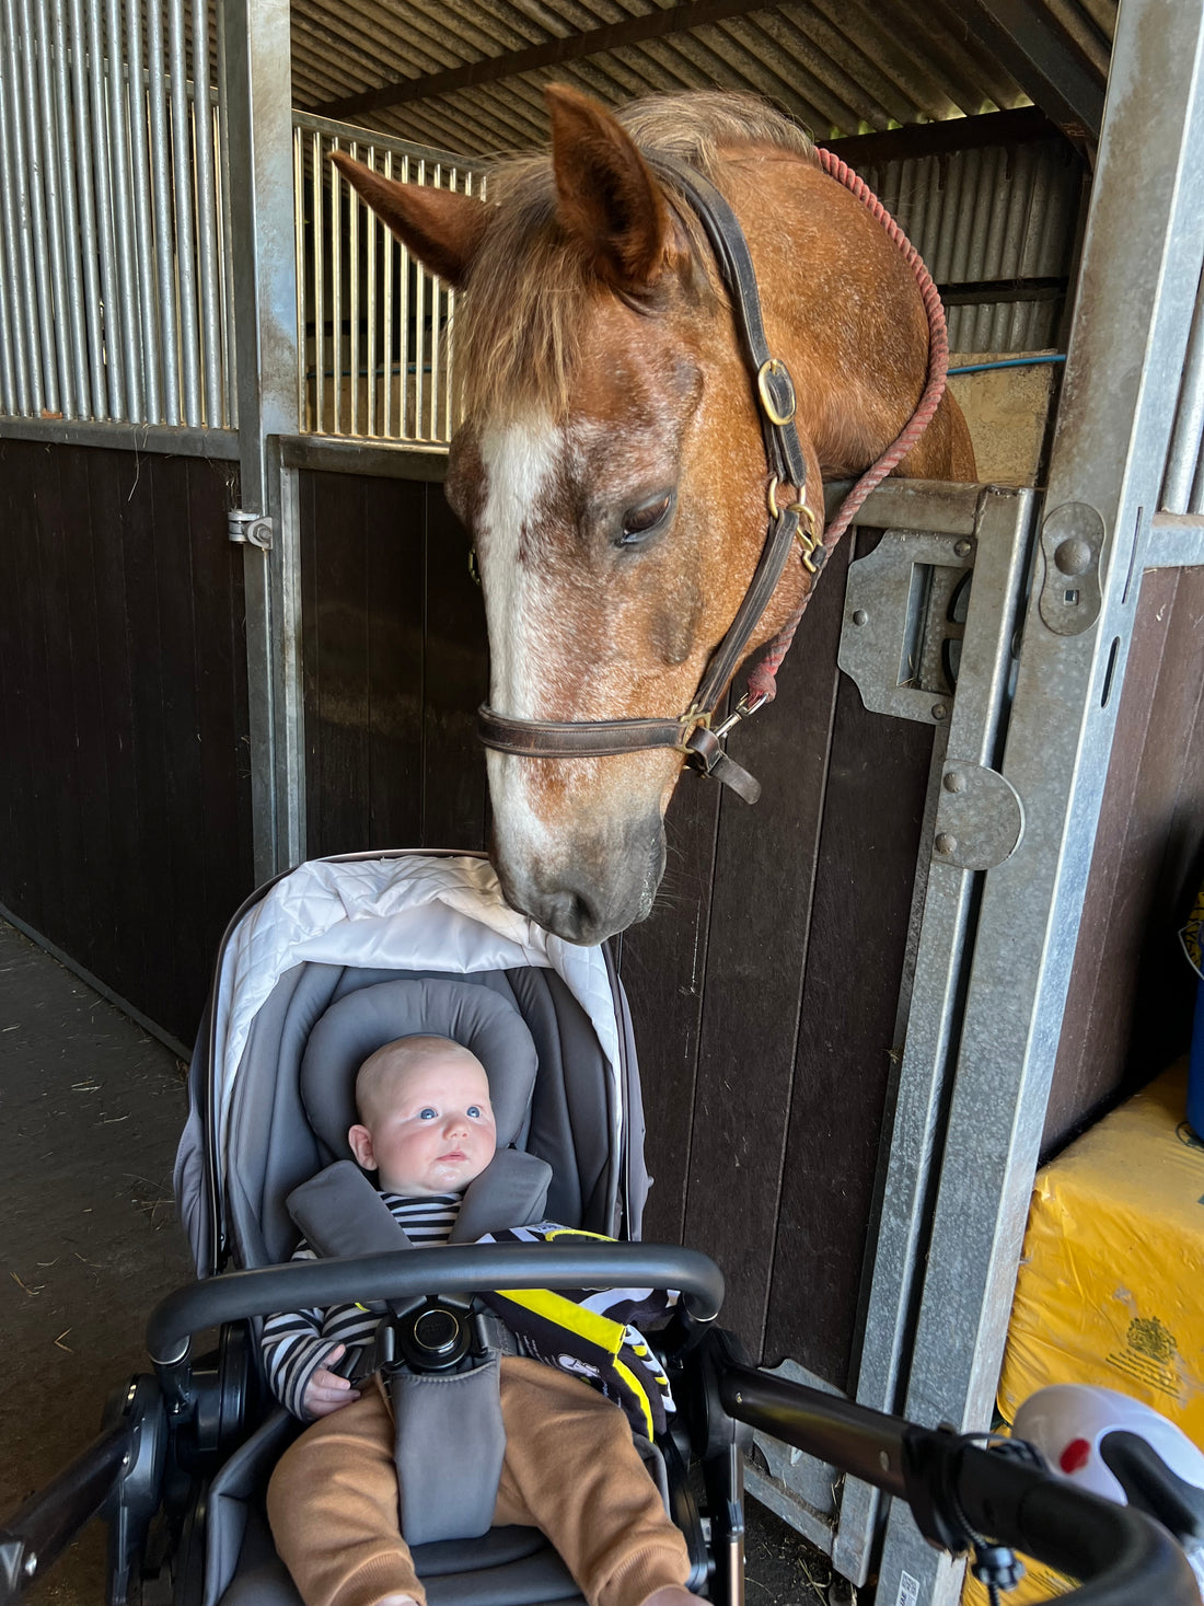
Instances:
[[[180,1365],[193,1333],[275,1310],[506,1288],[677,1288],[695,1322],[711,1322],[724,1278],[700,1249],[668,1243],[470,1243],[344,1261],[291,1261],[209,1277],[161,1299],[146,1323],[156,1367]]]

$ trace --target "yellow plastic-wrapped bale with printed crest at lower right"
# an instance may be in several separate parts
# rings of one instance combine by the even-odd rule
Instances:
[[[1145,1400],[1204,1449],[1204,1143],[1186,1124],[1186,1062],[1037,1172],[999,1410],[1048,1383]],[[1010,1606],[1072,1585],[1032,1563]],[[986,1606],[966,1575],[965,1606]]]

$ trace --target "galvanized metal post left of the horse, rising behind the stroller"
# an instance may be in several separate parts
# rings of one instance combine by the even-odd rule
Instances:
[[[255,875],[305,853],[300,549],[273,438],[297,429],[297,267],[287,0],[223,0],[225,140],[234,241],[241,506],[271,520],[246,546]],[[204,96],[197,90],[197,101]]]

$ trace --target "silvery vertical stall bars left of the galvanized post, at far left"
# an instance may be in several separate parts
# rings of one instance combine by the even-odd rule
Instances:
[[[2,0],[5,434],[234,426],[210,56],[204,0]]]

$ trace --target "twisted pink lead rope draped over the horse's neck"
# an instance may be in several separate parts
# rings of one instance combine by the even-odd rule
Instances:
[[[925,384],[923,395],[912,413],[910,421],[904,426],[904,430],[893,445],[872,464],[865,474],[857,480],[849,495],[840,506],[836,517],[824,532],[824,554],[827,556],[832,548],[840,541],[841,535],[852,524],[857,509],[881,480],[897,467],[917,440],[923,435],[933,421],[933,414],[941,405],[941,397],[946,390],[946,373],[949,369],[949,332],[946,331],[946,315],[941,307],[941,297],[933,284],[933,276],[928,268],[920,260],[920,252],[904,234],[899,225],[894,222],[891,214],[870,190],[864,178],[848,167],[838,156],[832,151],[817,151],[819,164],[825,173],[835,178],[838,183],[851,190],[852,194],[862,201],[875,218],[881,223],[891,239],[896,243],[899,251],[904,254],[904,260],[915,275],[917,284],[920,286],[920,296],[923,297],[925,313],[928,315],[928,382]],[[812,580],[807,594],[803,602],[795,610],[793,617],[785,623],[782,631],[769,642],[763,657],[753,666],[748,676],[748,708],[758,707],[761,703],[772,702],[777,695],[777,671],[782,666],[782,660],[787,652],[790,652],[790,642],[795,639],[795,630],[798,622],[803,618],[803,612],[811,601],[811,594],[816,589]]]

